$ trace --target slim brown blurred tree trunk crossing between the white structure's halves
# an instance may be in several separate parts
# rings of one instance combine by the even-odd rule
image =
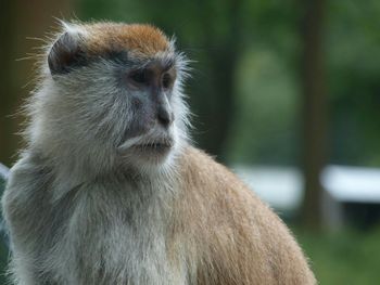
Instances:
[[[303,95],[303,171],[305,196],[303,224],[318,230],[321,225],[320,172],[326,164],[326,89],[322,59],[325,0],[301,1],[303,17],[301,77]]]

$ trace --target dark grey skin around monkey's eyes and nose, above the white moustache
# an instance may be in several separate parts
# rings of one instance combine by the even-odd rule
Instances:
[[[153,126],[168,131],[174,121],[170,106],[176,69],[173,62],[159,59],[132,62],[118,57],[117,81],[127,91],[134,111],[125,140],[148,132]]]

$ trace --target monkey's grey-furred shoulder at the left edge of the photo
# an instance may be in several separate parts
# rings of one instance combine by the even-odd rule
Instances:
[[[49,193],[51,180],[50,169],[29,154],[23,154],[12,167],[1,204],[13,243],[17,238],[34,243],[46,234],[51,218],[46,193]]]

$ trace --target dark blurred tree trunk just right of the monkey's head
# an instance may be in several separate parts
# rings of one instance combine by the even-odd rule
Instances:
[[[219,160],[224,160],[225,142],[229,134],[231,122],[235,118],[235,72],[240,56],[241,43],[241,13],[242,1],[229,0],[225,20],[227,30],[224,37],[217,35],[217,25],[211,16],[215,7],[208,1],[200,1],[201,21],[204,27],[203,44],[206,48],[205,55],[208,66],[207,94],[198,93],[198,104],[200,107],[200,119],[204,133],[198,139],[202,148],[208,153],[218,155]],[[205,82],[203,82],[205,83]],[[204,92],[204,87],[202,88]],[[205,104],[207,102],[207,104]]]

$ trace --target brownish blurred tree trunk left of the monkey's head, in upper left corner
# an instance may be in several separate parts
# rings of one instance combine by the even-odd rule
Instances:
[[[31,86],[25,87],[33,78],[30,61],[16,61],[35,53],[41,41],[27,38],[43,38],[53,26],[53,16],[62,17],[68,11],[72,0],[59,2],[50,0],[2,0],[0,4],[0,161],[11,166],[21,147],[21,116],[13,116],[26,98]]]

